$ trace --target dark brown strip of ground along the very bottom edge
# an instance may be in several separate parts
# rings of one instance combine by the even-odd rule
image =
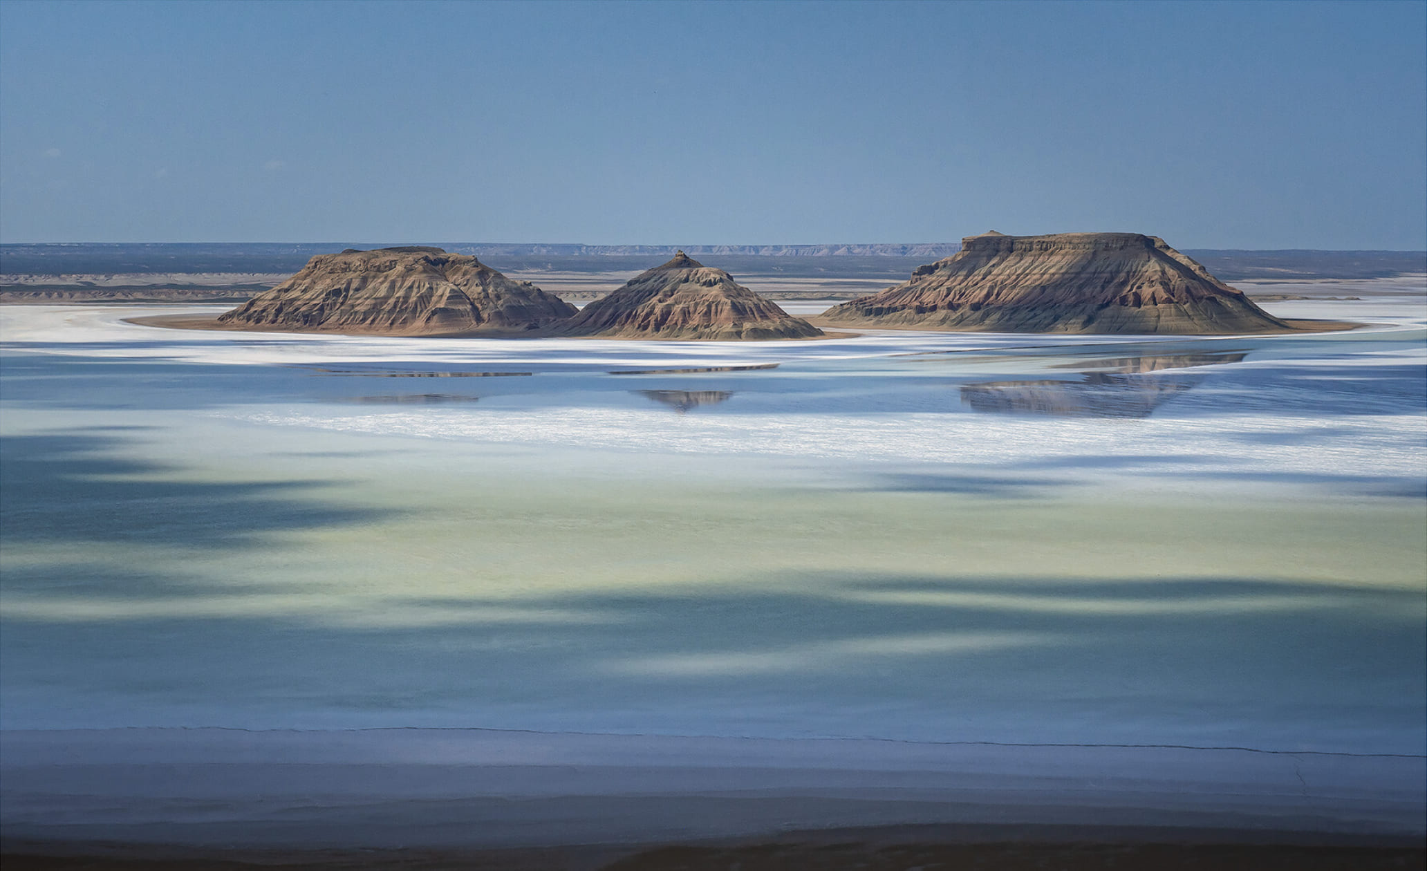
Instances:
[[[1408,838],[1076,827],[888,827],[773,840],[521,850],[223,850],[14,841],[6,871],[1329,871],[1423,868]]]

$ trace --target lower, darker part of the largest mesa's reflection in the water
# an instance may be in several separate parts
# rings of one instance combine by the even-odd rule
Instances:
[[[962,401],[973,411],[1050,414],[1055,417],[1149,417],[1170,397],[1199,380],[1152,380],[1086,373],[1083,381],[987,381],[963,384]]]

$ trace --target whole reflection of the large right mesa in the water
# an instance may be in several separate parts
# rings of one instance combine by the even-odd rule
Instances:
[[[1056,417],[1149,417],[1176,394],[1193,388],[1203,377],[1162,380],[1144,377],[1172,368],[1239,363],[1243,351],[1222,354],[1179,354],[1166,357],[1123,357],[1090,363],[1100,371],[1080,373],[1080,381],[986,381],[963,384],[962,401],[973,411],[1003,414],[1050,414]],[[1077,367],[1087,364],[1077,363]],[[1114,371],[1103,371],[1106,368]]]

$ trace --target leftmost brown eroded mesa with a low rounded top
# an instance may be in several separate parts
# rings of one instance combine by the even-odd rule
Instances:
[[[577,308],[475,257],[405,246],[318,254],[303,271],[218,317],[233,327],[387,336],[521,333]]]

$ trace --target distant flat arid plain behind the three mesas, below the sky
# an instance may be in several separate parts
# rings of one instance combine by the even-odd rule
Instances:
[[[284,281],[332,244],[4,244],[0,301],[197,303],[245,300]],[[358,246],[377,247],[377,246]],[[445,244],[474,254],[515,281],[571,301],[599,298],[639,274],[669,246]],[[728,270],[772,300],[850,300],[906,281],[915,268],[955,254],[928,246],[688,246],[692,257]],[[1381,278],[1427,271],[1421,251],[1186,250],[1222,280],[1237,283]],[[1244,287],[1250,296],[1250,291]],[[1271,293],[1271,291],[1266,291]]]

